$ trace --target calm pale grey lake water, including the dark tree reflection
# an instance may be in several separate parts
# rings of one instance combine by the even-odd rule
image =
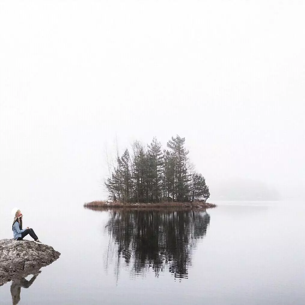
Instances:
[[[32,227],[61,256],[20,289],[18,304],[304,304],[303,203],[217,204],[49,209]],[[11,287],[0,287],[0,304],[12,304]]]

